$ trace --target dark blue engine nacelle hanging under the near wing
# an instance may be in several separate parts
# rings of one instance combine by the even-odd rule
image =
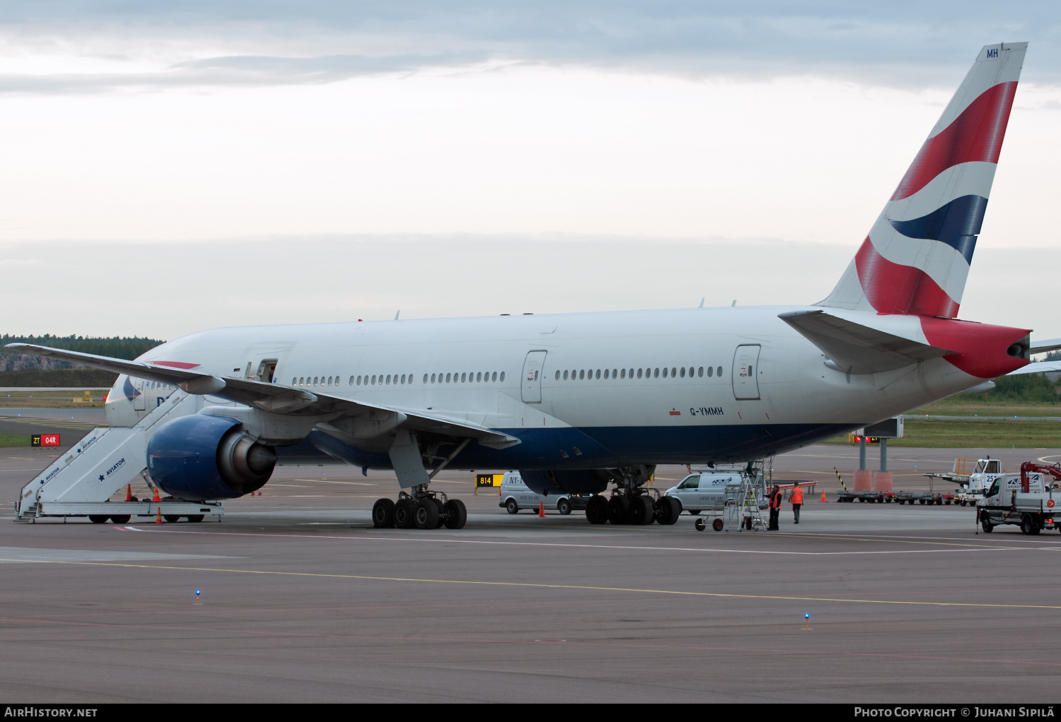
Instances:
[[[257,491],[276,465],[272,446],[236,419],[193,413],[168,421],[147,442],[147,473],[167,494],[190,501]]]

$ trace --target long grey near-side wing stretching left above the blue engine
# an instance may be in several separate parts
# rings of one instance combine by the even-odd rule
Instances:
[[[494,448],[505,448],[506,446],[520,443],[520,440],[516,437],[501,434],[466,419],[452,418],[455,415],[447,415],[445,412],[433,413],[431,409],[405,409],[366,404],[362,401],[353,401],[325,393],[311,393],[303,389],[267,384],[254,378],[215,376],[187,368],[191,366],[189,364],[126,360],[124,358],[97,356],[90,353],[53,349],[32,344],[7,344],[4,349],[12,353],[33,353],[40,356],[52,356],[114,373],[125,373],[137,378],[173,384],[189,393],[210,394],[227,401],[234,401],[238,404],[255,406],[272,413],[292,416],[334,415],[333,419],[343,417],[358,419],[360,417],[370,418],[371,415],[378,415],[382,411],[386,413],[399,413],[401,423],[398,426],[403,428],[479,439],[481,444]],[[397,426],[393,427],[397,428]]]

